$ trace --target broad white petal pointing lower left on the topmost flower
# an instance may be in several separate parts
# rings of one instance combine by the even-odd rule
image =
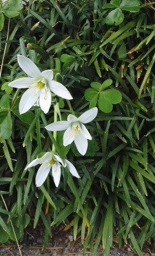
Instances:
[[[29,88],[21,97],[19,102],[19,112],[23,114],[27,112],[36,103],[39,97],[39,90],[36,87]]]

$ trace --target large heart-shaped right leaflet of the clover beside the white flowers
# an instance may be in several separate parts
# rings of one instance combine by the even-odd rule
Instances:
[[[113,104],[121,102],[121,93],[116,89],[108,89],[100,92],[98,106],[99,109],[105,113],[112,111]]]

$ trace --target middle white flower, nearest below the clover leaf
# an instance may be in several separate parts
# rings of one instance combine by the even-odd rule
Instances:
[[[85,125],[83,125],[83,123],[91,122],[92,120],[94,120],[94,118],[96,118],[97,114],[98,109],[96,107],[87,110],[86,112],[81,114],[79,118],[76,118],[76,116],[69,114],[67,121],[51,123],[45,128],[48,131],[66,130],[63,135],[63,145],[67,146],[74,141],[79,153],[81,153],[81,155],[85,155],[88,147],[87,140],[92,140],[92,136],[88,132]]]

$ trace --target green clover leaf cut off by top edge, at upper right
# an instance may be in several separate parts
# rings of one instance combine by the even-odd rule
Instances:
[[[139,0],[122,0],[120,5],[121,10],[128,10],[129,12],[139,12],[140,1]]]

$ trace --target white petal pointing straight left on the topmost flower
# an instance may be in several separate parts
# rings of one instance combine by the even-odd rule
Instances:
[[[34,79],[31,77],[23,77],[16,79],[8,84],[8,86],[14,87],[14,88],[29,88],[31,87],[31,84],[33,84]]]

